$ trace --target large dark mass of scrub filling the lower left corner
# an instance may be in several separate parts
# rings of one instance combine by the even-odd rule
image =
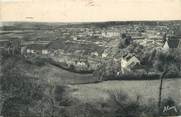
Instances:
[[[2,96],[5,97],[3,116],[58,117],[62,108],[71,105],[72,99],[67,97],[66,87],[21,73],[19,64],[24,65],[23,58],[9,56],[3,61],[0,77]]]

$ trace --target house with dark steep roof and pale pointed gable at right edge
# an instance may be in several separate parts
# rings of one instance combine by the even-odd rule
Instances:
[[[169,38],[165,41],[163,45],[163,50],[164,51],[169,51],[169,50],[178,50],[181,48],[181,38]]]

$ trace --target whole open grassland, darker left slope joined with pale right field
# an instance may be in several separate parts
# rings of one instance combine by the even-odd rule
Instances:
[[[10,62],[13,59],[6,59]],[[37,66],[22,60],[16,61],[14,68],[25,76],[41,78],[55,85],[68,85],[74,92],[71,96],[84,102],[96,102],[109,99],[109,92],[121,91],[132,100],[138,97],[143,103],[158,101],[160,80],[115,80],[97,82],[92,74],[79,74],[60,69],[54,65]],[[181,79],[163,81],[163,98],[171,97],[181,103]]]

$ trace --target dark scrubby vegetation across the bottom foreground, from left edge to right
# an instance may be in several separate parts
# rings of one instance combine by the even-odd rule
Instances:
[[[61,83],[61,80],[56,82],[55,79],[51,79],[52,77],[40,77],[38,72],[26,71],[28,68],[33,70],[36,67],[40,70],[47,63],[33,64],[22,56],[11,56],[4,53],[1,65],[0,104],[2,106],[1,115],[5,117],[155,117],[158,115],[157,102],[142,103],[139,95],[133,99],[124,91],[113,89],[107,92],[110,98],[106,100],[84,101],[72,95],[80,89]],[[46,75],[46,72],[44,73]],[[70,81],[67,84],[71,84]],[[101,87],[101,84],[97,85]],[[75,85],[72,84],[72,86]],[[94,89],[94,85],[91,87]],[[121,89],[124,88],[126,89],[126,87]],[[89,93],[89,91],[91,88],[84,92]],[[94,97],[94,95],[92,96]],[[167,98],[163,102],[177,106],[174,98],[168,98],[169,102],[166,100]],[[179,110],[179,105],[177,108]],[[180,111],[166,114],[177,115],[179,113]]]

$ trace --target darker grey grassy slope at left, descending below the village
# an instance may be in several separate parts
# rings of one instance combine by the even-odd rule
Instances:
[[[11,62],[10,62],[11,61]],[[10,73],[20,73],[24,76],[35,77],[38,79],[43,79],[48,82],[55,83],[57,85],[66,84],[79,84],[79,83],[90,83],[96,82],[96,78],[92,74],[79,74],[73,73],[49,63],[44,63],[43,65],[36,65],[24,60],[23,58],[8,58],[3,61],[4,66],[13,64],[13,67],[9,69]]]

